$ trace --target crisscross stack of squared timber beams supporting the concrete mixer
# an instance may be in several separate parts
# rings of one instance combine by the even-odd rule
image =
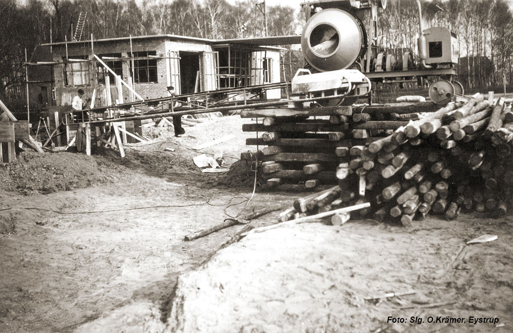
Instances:
[[[264,146],[258,160],[263,162],[261,180],[269,188],[288,185],[288,189],[297,186],[315,190],[338,183],[339,165],[351,163],[361,167],[364,161],[353,157],[360,156],[369,143],[419,119],[420,112],[430,113],[438,108],[422,103],[393,108],[385,105],[253,109],[243,110],[241,117],[256,119],[242,129],[257,133],[257,138],[247,139],[246,144]],[[256,156],[242,153],[241,159],[255,160]],[[365,168],[370,167],[370,161],[365,163]]]

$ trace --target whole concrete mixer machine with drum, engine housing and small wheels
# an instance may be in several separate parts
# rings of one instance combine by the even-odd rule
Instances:
[[[378,38],[378,9],[386,0],[317,0],[301,4],[307,22],[301,35],[306,61],[292,79],[292,93],[326,97],[321,106],[350,105],[368,97],[371,82],[411,82],[437,76],[429,95],[433,102],[445,104],[463,95],[455,81],[458,63],[456,35],[444,27],[427,26],[441,10],[429,5],[419,8],[418,54],[411,50],[399,54],[373,43]],[[365,26],[364,22],[367,22]]]

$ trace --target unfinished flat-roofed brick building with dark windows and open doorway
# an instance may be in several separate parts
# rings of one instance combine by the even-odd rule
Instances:
[[[52,47],[52,105],[71,105],[77,90],[83,89],[86,98],[94,96],[94,106],[108,105],[108,87],[111,102],[122,103],[137,99],[128,87],[147,100],[168,96],[170,85],[178,94],[189,94],[280,82],[283,50],[176,35],[43,46]],[[280,90],[269,90],[266,97],[279,99]]]

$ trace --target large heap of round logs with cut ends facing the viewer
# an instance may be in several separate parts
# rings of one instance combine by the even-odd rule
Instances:
[[[428,213],[447,220],[462,210],[504,216],[513,204],[513,112],[502,98],[483,99],[449,103],[371,142],[339,165],[339,186],[297,199],[280,219],[361,202],[370,207],[360,217],[402,225]]]

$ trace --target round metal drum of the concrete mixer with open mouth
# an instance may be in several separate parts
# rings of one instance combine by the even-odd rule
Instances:
[[[314,14],[301,35],[303,55],[319,71],[348,68],[365,53],[366,45],[362,22],[341,9]]]

